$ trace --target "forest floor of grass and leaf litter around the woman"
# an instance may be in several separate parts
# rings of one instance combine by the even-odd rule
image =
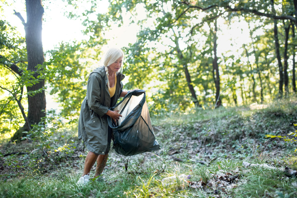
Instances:
[[[1,140],[0,197],[297,197],[297,178],[281,169],[297,170],[296,144],[265,136],[294,137],[288,134],[297,130],[296,100],[151,119],[161,149],[131,157],[111,150],[104,181],[84,187],[76,182],[87,151],[75,133],[51,137],[64,144],[58,150]]]

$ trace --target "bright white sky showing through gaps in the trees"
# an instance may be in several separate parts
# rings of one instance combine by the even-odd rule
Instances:
[[[45,3],[47,3],[43,21],[43,47],[45,51],[53,49],[62,41],[71,42],[74,40],[80,41],[88,39],[88,37],[82,33],[84,27],[79,19],[69,19],[64,16],[64,12],[69,11],[66,10],[67,2],[58,0],[59,6],[56,5],[56,2],[51,3],[46,1]],[[85,7],[90,6],[85,4],[83,5]],[[108,0],[101,0],[99,12],[106,12],[108,5]],[[24,27],[19,18],[13,14],[13,10],[20,12],[26,21],[25,2],[23,0],[15,0],[15,3],[11,3],[10,6],[3,7],[6,20],[8,20],[12,26],[16,26],[17,30],[24,36]],[[82,7],[82,10],[85,7]],[[144,8],[138,6],[137,10],[139,10],[137,18],[144,18]],[[127,20],[124,20],[124,24],[121,27],[115,26],[111,32],[106,34],[108,36],[107,39],[110,39],[108,45],[116,45],[121,48],[128,46],[129,43],[136,42],[136,35],[139,31],[139,27],[136,24],[129,24],[128,17],[129,14],[126,14]],[[227,50],[234,51],[234,49],[241,48],[243,43],[250,42],[247,39],[249,38],[249,30],[247,28],[247,24],[243,21],[234,22],[231,28],[227,28],[227,25],[224,23],[223,19],[221,19],[218,21],[218,25],[222,30],[221,32],[218,32],[218,54]]]

